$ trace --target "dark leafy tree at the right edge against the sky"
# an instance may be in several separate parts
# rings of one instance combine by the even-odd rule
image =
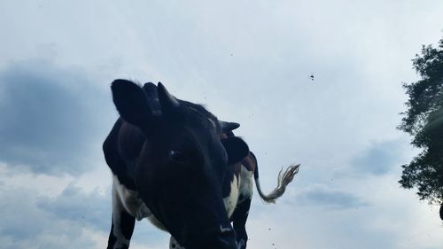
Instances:
[[[408,94],[407,111],[401,113],[400,130],[413,136],[411,144],[421,152],[401,166],[399,181],[405,189],[430,204],[443,201],[443,39],[437,47],[423,45],[412,59],[420,80],[403,84]],[[443,204],[441,206],[443,208]],[[443,216],[440,212],[440,216]],[[443,217],[441,217],[443,220]]]

